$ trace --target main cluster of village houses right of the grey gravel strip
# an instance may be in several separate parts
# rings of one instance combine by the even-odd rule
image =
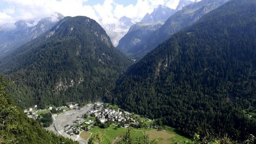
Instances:
[[[94,107],[90,109],[86,114],[81,117],[77,117],[72,125],[67,124],[64,128],[64,132],[69,135],[79,134],[82,130],[88,132],[90,127],[98,126],[100,128],[107,128],[111,124],[116,127],[133,127],[142,128],[143,121],[139,118],[132,117],[134,114],[130,112],[117,109],[107,108],[103,103],[94,104]],[[86,120],[87,119],[87,120]],[[88,120],[89,119],[89,120]],[[149,119],[148,119],[149,120]],[[151,121],[151,120],[149,120]],[[159,129],[159,126],[146,125],[147,128]]]

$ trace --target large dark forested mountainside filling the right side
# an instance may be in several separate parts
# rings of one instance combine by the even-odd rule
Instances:
[[[255,7],[230,0],[210,11],[132,65],[106,98],[203,143],[256,135],[243,112],[256,107]]]

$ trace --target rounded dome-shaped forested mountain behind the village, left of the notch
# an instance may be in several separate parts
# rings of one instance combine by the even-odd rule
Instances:
[[[88,17],[65,17],[52,29],[0,59],[0,73],[21,108],[99,101],[131,61]]]

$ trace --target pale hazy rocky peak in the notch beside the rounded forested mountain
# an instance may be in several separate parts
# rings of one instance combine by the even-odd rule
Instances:
[[[99,22],[101,26],[106,30],[114,46],[117,46],[119,40],[128,32],[129,28],[134,24],[131,18],[123,16],[117,23],[103,24]]]

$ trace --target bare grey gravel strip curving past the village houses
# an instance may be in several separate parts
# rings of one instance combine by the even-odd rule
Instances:
[[[47,130],[52,130],[54,133],[58,135],[62,135],[64,137],[68,137],[72,140],[78,141],[79,143],[86,143],[85,140],[80,138],[79,135],[72,135],[65,133],[65,126],[66,124],[73,124],[73,121],[77,120],[78,116],[83,116],[86,114],[87,111],[93,108],[93,104],[88,105],[86,107],[81,108],[80,110],[69,110],[66,112],[63,112],[60,115],[53,115],[53,123],[50,127],[46,128]]]

